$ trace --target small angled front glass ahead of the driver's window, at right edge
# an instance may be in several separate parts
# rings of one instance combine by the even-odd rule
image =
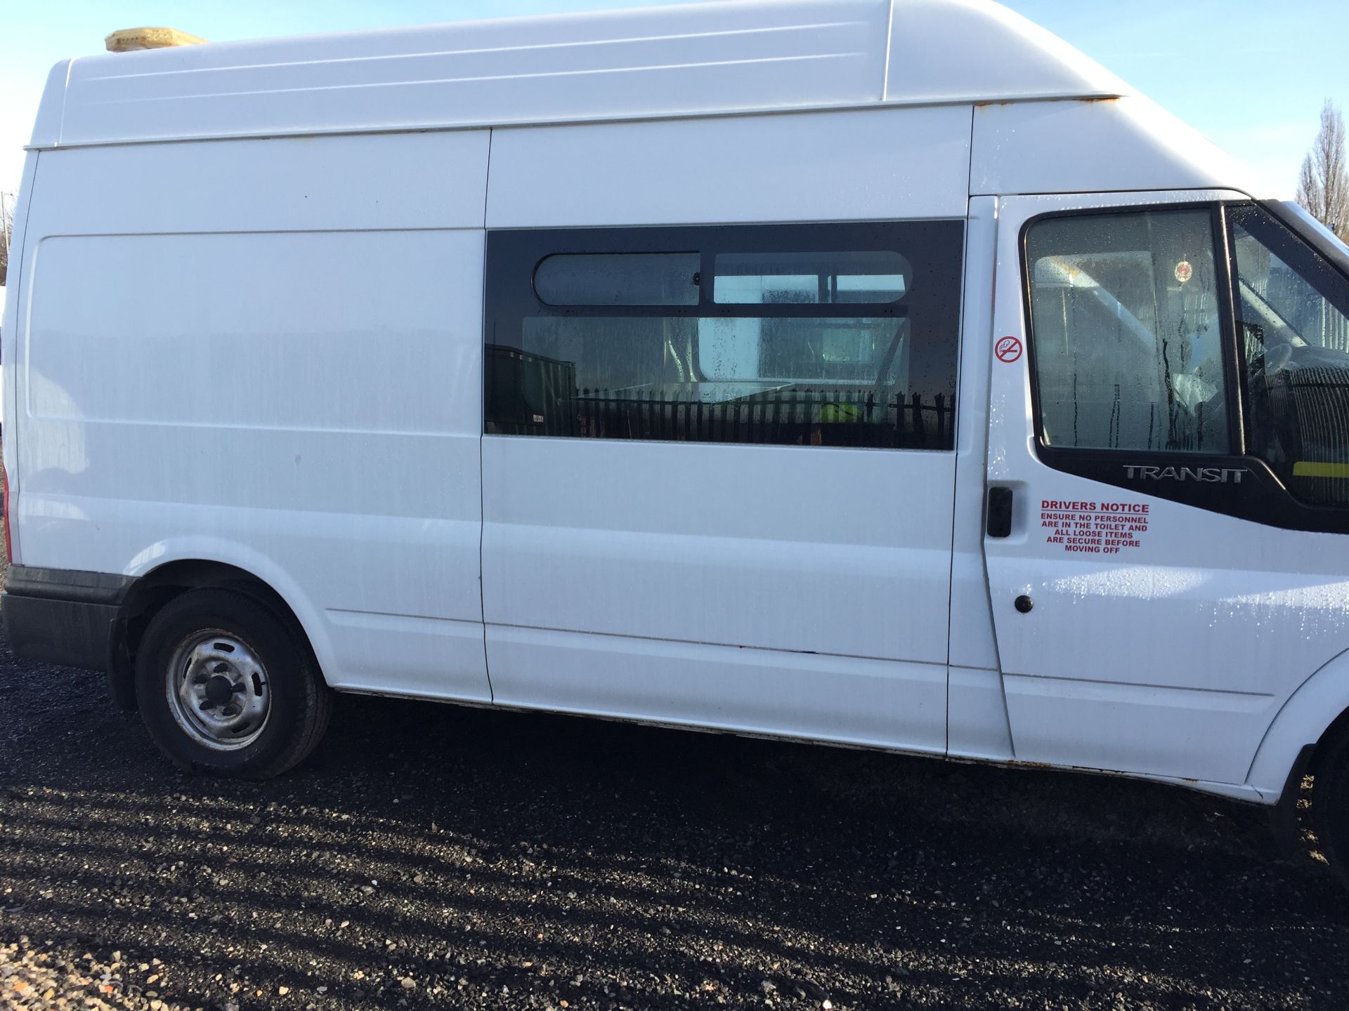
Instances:
[[[1349,506],[1349,280],[1268,212],[1228,212],[1248,449],[1314,506]]]

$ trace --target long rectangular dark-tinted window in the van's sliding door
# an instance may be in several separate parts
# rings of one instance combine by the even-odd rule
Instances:
[[[959,221],[492,232],[484,430],[951,449],[962,244]]]

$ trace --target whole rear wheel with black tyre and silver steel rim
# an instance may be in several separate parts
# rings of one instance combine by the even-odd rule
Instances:
[[[136,700],[174,763],[247,779],[301,762],[332,709],[304,634],[225,589],[190,590],[155,615],[136,652]]]

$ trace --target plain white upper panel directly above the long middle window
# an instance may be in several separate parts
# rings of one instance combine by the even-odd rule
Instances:
[[[965,217],[970,106],[492,131],[488,228]]]

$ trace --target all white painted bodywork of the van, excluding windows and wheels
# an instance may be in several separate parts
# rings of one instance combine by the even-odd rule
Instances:
[[[1128,565],[1036,553],[1031,497],[1102,492],[1037,462],[1027,361],[992,356],[1028,216],[1252,195],[981,0],[70,61],[4,309],[15,554],[246,569],[340,689],[1272,802],[1349,708],[1345,539],[1151,500]],[[929,218],[966,222],[954,452],[482,434],[484,229]]]

